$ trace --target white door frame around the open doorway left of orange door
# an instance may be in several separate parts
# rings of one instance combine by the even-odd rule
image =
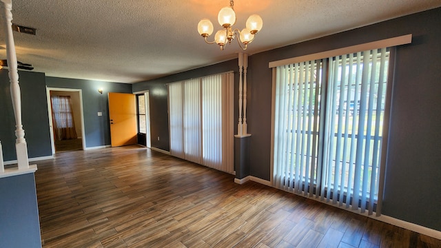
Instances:
[[[52,107],[50,101],[50,92],[77,92],[80,99],[80,116],[81,116],[81,146],[83,150],[85,149],[85,132],[84,132],[84,112],[83,112],[83,91],[81,89],[68,89],[59,87],[48,87],[46,86],[46,99],[48,101],[48,116],[49,116],[49,131],[50,131],[50,145],[52,147],[52,155],[55,154],[55,142],[54,142],[54,129],[52,128],[54,123],[52,123]]]

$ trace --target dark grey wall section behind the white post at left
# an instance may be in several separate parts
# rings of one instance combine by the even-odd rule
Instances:
[[[46,101],[45,74],[19,71],[21,116],[28,156],[52,156]],[[17,159],[15,153],[15,118],[10,95],[8,70],[0,70],[0,141],[5,161]]]

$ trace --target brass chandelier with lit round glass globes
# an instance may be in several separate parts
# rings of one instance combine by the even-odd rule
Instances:
[[[213,23],[209,19],[202,19],[198,23],[198,32],[205,38],[205,42],[208,44],[216,43],[220,46],[220,50],[224,50],[227,43],[231,43],[235,36],[238,37],[238,44],[243,50],[247,49],[248,43],[254,40],[255,34],[262,29],[263,21],[258,14],[252,14],[248,17],[246,28],[242,31],[233,29],[232,26],[236,23],[236,13],[234,12],[234,1],[229,1],[229,7],[220,9],[218,14],[218,22],[223,29],[218,30],[214,34],[214,41],[207,41],[213,33]],[[243,44],[243,45],[242,45]]]

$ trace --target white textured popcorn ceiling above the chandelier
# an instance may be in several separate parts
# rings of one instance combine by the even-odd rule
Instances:
[[[220,51],[197,32],[227,0],[12,0],[13,23],[37,28],[14,32],[17,59],[47,76],[136,83],[234,59],[237,41]],[[440,0],[236,0],[242,29],[259,14],[263,29],[248,54],[323,37],[441,6]],[[0,28],[0,59],[6,59]],[[213,39],[209,37],[209,40]]]

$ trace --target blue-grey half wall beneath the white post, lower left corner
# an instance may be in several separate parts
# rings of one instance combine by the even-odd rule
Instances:
[[[34,174],[0,178],[0,247],[41,247]]]

